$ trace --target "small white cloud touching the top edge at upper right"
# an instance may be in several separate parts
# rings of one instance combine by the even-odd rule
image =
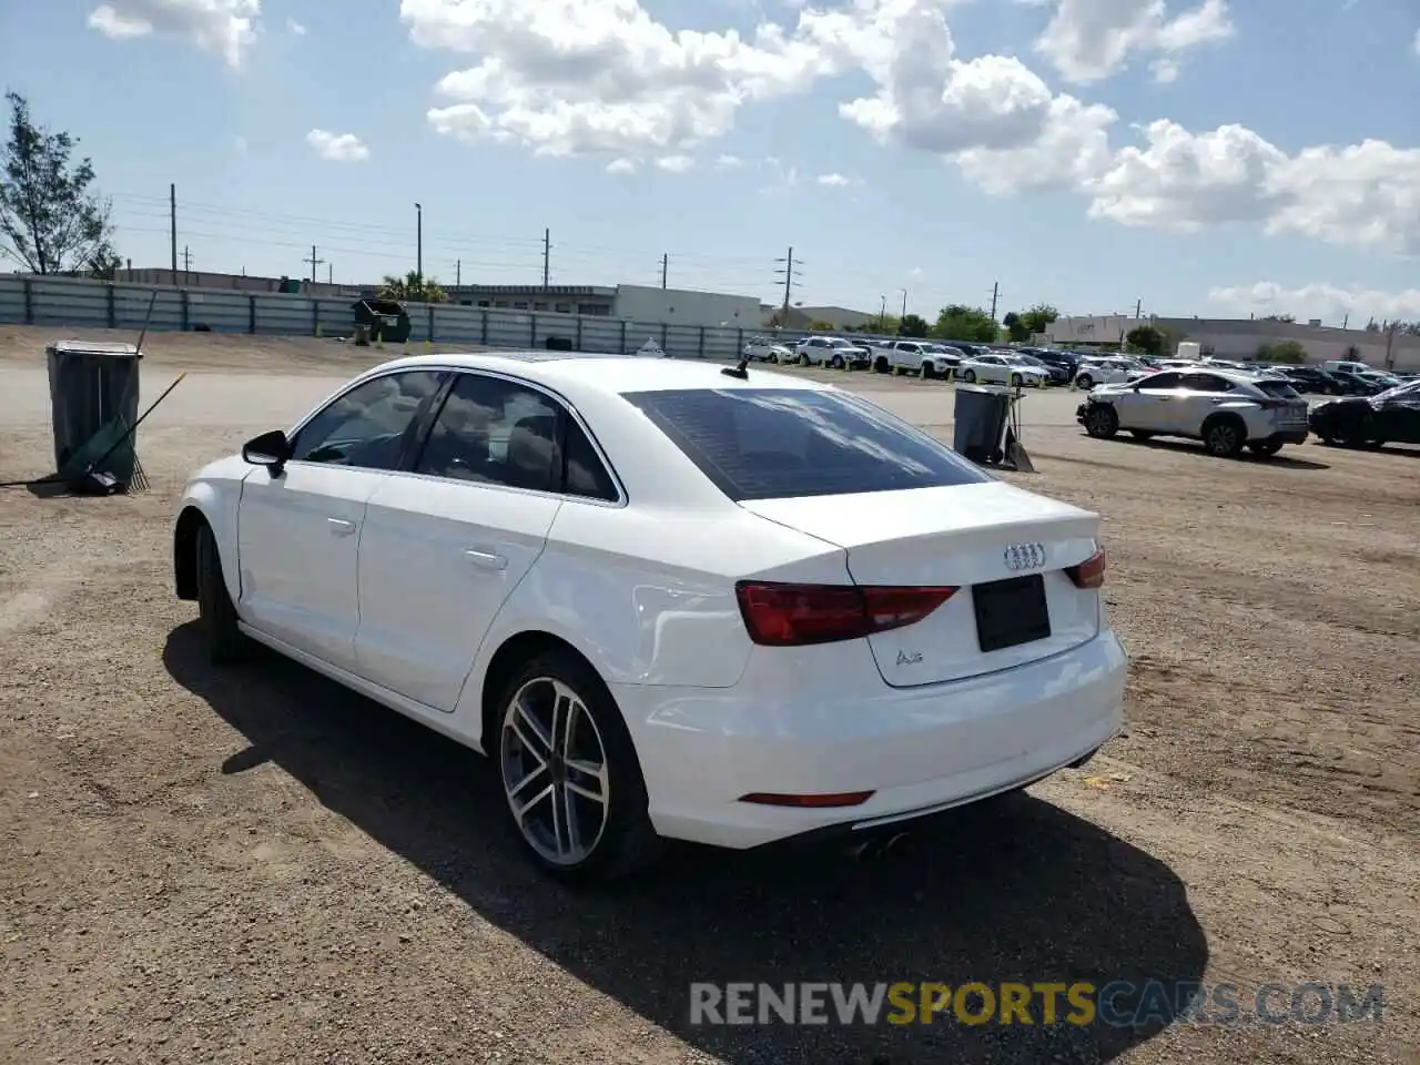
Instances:
[[[1164,0],[1058,0],[1035,50],[1079,85],[1119,74],[1136,53],[1159,57],[1154,77],[1173,81],[1184,53],[1233,34],[1227,0],[1203,0],[1179,14]]]

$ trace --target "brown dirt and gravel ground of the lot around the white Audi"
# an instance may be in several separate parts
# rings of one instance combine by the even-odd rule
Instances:
[[[0,328],[0,480],[48,471],[58,335]],[[152,491],[0,496],[0,1062],[1417,1061],[1420,452],[1217,462],[1086,439],[1074,396],[1032,398],[1039,471],[1008,476],[1105,517],[1126,734],[872,862],[680,848],[571,893],[524,863],[477,755],[274,657],[214,672],[173,598],[187,471],[325,388],[277,375],[381,354],[146,349],[145,376],[192,372],[175,402],[204,396],[139,432]],[[846,381],[950,420],[944,385]],[[1149,978],[1244,1008],[1379,983],[1384,1014],[689,1024],[692,981]]]

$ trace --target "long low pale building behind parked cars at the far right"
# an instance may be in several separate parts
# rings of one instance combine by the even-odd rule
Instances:
[[[1120,337],[1140,325],[1157,325],[1180,339],[1197,341],[1213,348],[1220,359],[1251,359],[1264,344],[1296,341],[1306,348],[1309,362],[1352,359],[1355,348],[1362,362],[1386,365],[1386,334],[1365,329],[1335,329],[1322,325],[1298,325],[1251,318],[1059,318],[1045,335],[1052,344],[1119,344]],[[1390,345],[1394,369],[1420,372],[1420,337],[1397,334]]]

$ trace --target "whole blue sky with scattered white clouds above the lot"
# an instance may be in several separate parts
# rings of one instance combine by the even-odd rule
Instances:
[[[1420,0],[0,0],[119,254],[1420,320]]]

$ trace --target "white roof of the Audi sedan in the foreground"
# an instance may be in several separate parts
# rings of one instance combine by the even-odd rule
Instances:
[[[747,368],[747,379],[720,371],[728,362],[711,359],[672,359],[656,355],[601,355],[565,351],[490,351],[446,355],[410,355],[372,366],[371,373],[425,366],[481,369],[510,373],[554,389],[571,388],[604,395],[628,392],[667,392],[672,389],[746,389],[791,388],[808,392],[832,392],[834,385],[808,378],[772,373],[758,366]]]

